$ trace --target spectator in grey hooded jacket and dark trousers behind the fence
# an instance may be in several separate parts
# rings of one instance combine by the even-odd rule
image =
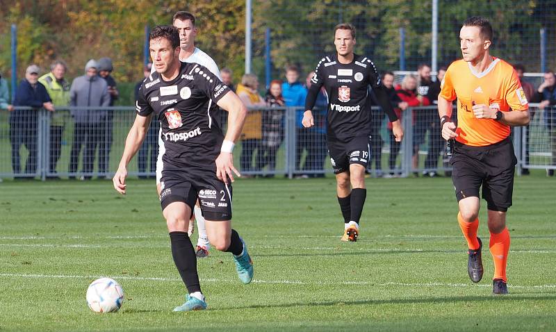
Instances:
[[[110,105],[110,94],[108,85],[104,79],[97,76],[97,62],[89,60],[85,65],[85,75],[76,77],[70,88],[71,106],[90,107],[97,106],[99,109],[72,110],[74,118],[74,135],[72,142],[72,153],[70,156],[70,173],[77,171],[79,164],[79,153],[81,147],[85,145],[83,151],[82,171],[86,174],[81,179],[90,179],[95,162],[95,150],[99,145],[99,140],[104,139],[104,123],[106,122],[106,112],[102,108]],[[105,150],[99,149],[99,170],[106,167],[104,163]],[[75,176],[70,175],[70,179]]]

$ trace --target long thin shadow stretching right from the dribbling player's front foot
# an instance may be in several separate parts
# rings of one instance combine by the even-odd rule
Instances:
[[[506,296],[464,296],[464,297],[423,297],[416,299],[368,299],[357,301],[325,301],[325,302],[309,302],[309,303],[291,303],[291,304],[257,304],[254,306],[237,306],[231,308],[220,308],[211,310],[234,310],[234,309],[263,309],[263,308],[296,308],[296,307],[325,307],[325,306],[362,306],[362,305],[382,305],[382,304],[446,304],[459,302],[487,302],[487,301],[523,301],[523,300],[556,300],[556,294],[550,292],[550,295],[528,296],[528,295],[506,295]]]

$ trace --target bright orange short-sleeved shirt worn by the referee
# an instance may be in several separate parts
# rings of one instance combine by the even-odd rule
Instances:
[[[473,103],[489,105],[492,109],[509,112],[528,110],[529,104],[514,68],[499,58],[482,73],[471,63],[457,60],[446,72],[439,97],[448,101],[457,98],[457,138],[460,143],[474,147],[498,143],[509,136],[509,126],[496,119],[477,119]]]

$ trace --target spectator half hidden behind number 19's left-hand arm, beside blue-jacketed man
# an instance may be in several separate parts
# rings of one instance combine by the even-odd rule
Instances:
[[[307,91],[311,88],[311,78],[315,76],[315,72],[310,72],[305,80]],[[327,158],[326,147],[326,112],[328,109],[328,99],[326,97],[325,87],[322,86],[317,95],[315,107],[313,108],[314,126],[305,128],[307,135],[307,156],[303,169],[311,171],[322,171],[325,169],[325,159]],[[309,174],[310,178],[323,178],[324,173]]]

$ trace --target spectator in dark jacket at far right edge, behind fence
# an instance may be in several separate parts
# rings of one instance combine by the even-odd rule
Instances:
[[[540,102],[539,108],[544,110],[544,120],[550,136],[550,151],[552,158],[550,165],[556,165],[556,77],[554,72],[544,73],[544,81],[539,85],[534,96],[535,102]],[[546,169],[546,175],[554,176],[554,169]]]

